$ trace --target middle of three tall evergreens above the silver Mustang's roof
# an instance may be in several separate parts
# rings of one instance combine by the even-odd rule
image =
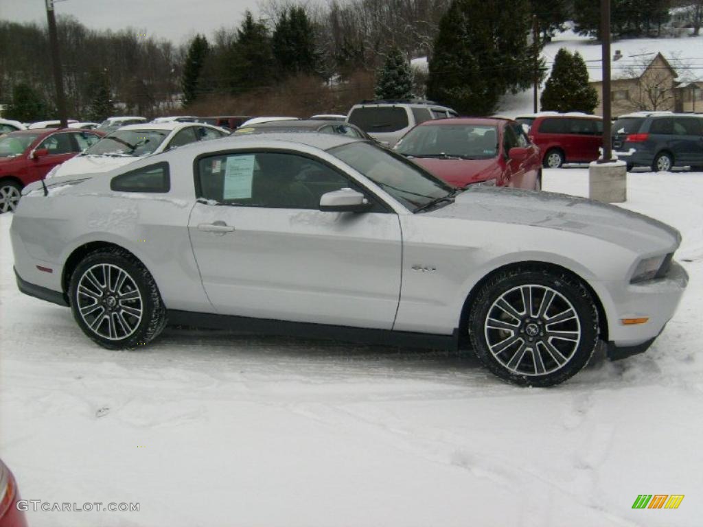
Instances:
[[[247,11],[228,53],[228,89],[243,93],[273,84],[276,60],[271,51],[271,35],[262,22]]]

